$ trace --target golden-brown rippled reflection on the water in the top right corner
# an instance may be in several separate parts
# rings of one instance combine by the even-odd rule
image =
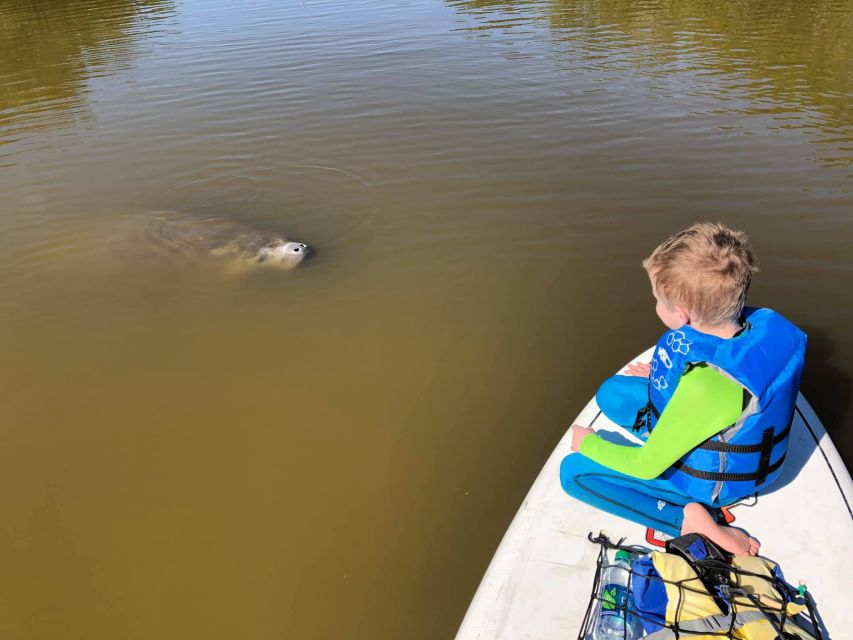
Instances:
[[[447,0],[477,20],[474,31],[507,38],[547,21],[567,71],[612,73],[628,65],[651,78],[689,74],[677,90],[713,91],[716,114],[763,116],[771,129],[800,129],[821,143],[820,160],[853,162],[853,3],[848,0]],[[580,66],[578,65],[580,63]],[[706,83],[701,77],[713,79]],[[697,86],[699,87],[697,89]],[[615,87],[618,88],[618,87]],[[672,88],[659,89],[672,98]],[[744,100],[746,98],[746,101]]]

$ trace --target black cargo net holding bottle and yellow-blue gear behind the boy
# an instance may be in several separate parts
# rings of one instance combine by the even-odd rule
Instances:
[[[826,640],[825,628],[818,616],[815,603],[805,585],[792,587],[780,571],[759,573],[731,564],[731,555],[718,549],[706,538],[697,534],[675,538],[667,543],[667,554],[687,561],[689,575],[682,579],[665,579],[657,571],[649,571],[652,564],[650,550],[636,545],[623,545],[624,539],[611,542],[606,535],[589,534],[590,542],[600,549],[596,560],[592,595],[578,640],[669,640],[670,638],[752,638],[781,640]],[[681,551],[690,542],[701,538],[711,553],[696,560]],[[679,549],[679,546],[681,549]],[[616,551],[632,555],[631,568],[616,565],[627,575],[623,599],[614,598],[613,592],[602,596],[602,578],[608,566],[608,553]],[[659,552],[661,553],[661,552]],[[644,562],[635,562],[644,560]],[[681,563],[680,560],[675,562]],[[645,564],[645,567],[639,565]],[[772,565],[772,563],[770,563]],[[683,563],[681,563],[684,569]],[[613,563],[610,563],[613,566]],[[775,566],[775,565],[772,565]],[[638,568],[639,567],[639,568]],[[649,592],[665,594],[663,606],[649,607]],[[636,591],[642,591],[635,602]],[[644,594],[644,595],[643,595]],[[698,606],[697,606],[698,601]],[[713,602],[709,606],[709,603]],[[793,606],[789,606],[793,605]],[[597,633],[602,606],[620,613],[621,632],[608,630]],[[703,610],[704,609],[704,610]],[[633,625],[629,624],[633,616]]]

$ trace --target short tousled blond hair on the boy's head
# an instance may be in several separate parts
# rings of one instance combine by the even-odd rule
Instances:
[[[702,324],[738,322],[752,274],[749,238],[721,223],[679,231],[643,260],[658,297],[680,305]]]

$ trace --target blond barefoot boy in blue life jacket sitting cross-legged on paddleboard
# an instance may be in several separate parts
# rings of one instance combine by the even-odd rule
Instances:
[[[647,437],[639,447],[618,445],[573,425],[578,453],[563,460],[563,489],[669,535],[702,533],[755,555],[758,542],[720,524],[719,507],[778,475],[806,336],[770,309],[744,308],[755,267],[740,231],[695,224],[643,266],[669,330],[650,365],[605,381],[596,399],[615,423]]]

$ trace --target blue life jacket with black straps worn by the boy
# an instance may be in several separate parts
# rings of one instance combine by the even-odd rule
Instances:
[[[644,410],[650,430],[692,367],[713,367],[744,388],[743,413],[737,422],[661,475],[706,504],[729,504],[772,482],[788,450],[806,334],[770,309],[744,309],[743,319],[745,330],[728,339],[689,325],[667,331],[651,362],[649,404]]]

